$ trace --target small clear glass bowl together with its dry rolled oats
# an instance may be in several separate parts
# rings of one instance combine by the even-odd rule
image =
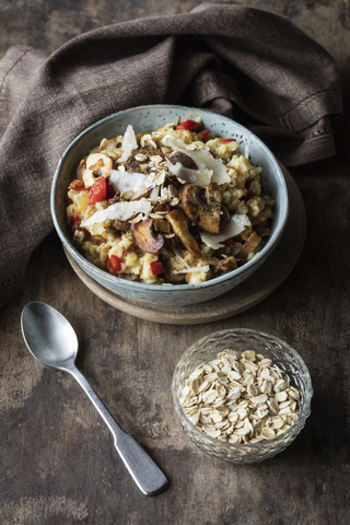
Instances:
[[[175,366],[172,394],[185,435],[231,463],[259,463],[287,448],[311,415],[302,357],[258,330],[226,329],[191,345]]]

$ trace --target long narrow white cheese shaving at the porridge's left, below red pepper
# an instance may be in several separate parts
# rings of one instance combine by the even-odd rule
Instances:
[[[149,213],[152,205],[147,199],[130,200],[129,202],[115,202],[105,210],[98,210],[85,221],[82,221],[83,228],[91,226],[105,221],[127,221],[137,213]]]

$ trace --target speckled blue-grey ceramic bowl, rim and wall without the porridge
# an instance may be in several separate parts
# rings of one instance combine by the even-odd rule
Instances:
[[[105,137],[124,135],[127,125],[136,132],[158,129],[170,121],[199,117],[209,131],[217,137],[234,138],[240,143],[240,152],[248,150],[253,165],[262,167],[261,185],[264,192],[276,199],[276,214],[271,235],[266,246],[247,264],[238,269],[198,284],[159,285],[128,281],[113,276],[88,261],[75,248],[66,223],[66,192],[74,178],[80,160]],[[280,241],[288,220],[288,189],[282,170],[271,151],[254,133],[230,118],[198,108],[184,106],[155,105],[140,106],[110,115],[90,126],[80,133],[62,154],[51,187],[51,215],[55,229],[68,254],[79,267],[98,284],[117,298],[127,298],[141,303],[159,305],[185,305],[212,300],[248,279],[266,260]]]

